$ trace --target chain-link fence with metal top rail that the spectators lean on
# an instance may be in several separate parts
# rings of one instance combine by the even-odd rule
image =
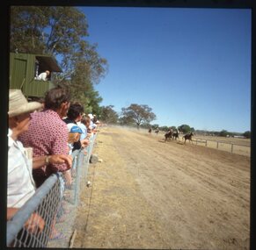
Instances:
[[[80,185],[86,184],[90,145],[73,152],[73,182],[67,186],[61,173],[51,175],[7,222],[6,242],[11,247],[68,247],[79,203]]]

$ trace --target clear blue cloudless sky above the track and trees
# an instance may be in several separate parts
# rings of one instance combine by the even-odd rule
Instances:
[[[151,124],[251,130],[251,11],[83,7],[109,71],[96,89],[121,111],[147,104]]]

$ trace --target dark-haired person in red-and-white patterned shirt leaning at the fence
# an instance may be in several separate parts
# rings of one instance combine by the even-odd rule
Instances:
[[[45,96],[45,110],[31,114],[27,132],[19,139],[24,146],[33,147],[33,157],[51,154],[68,154],[68,128],[62,121],[69,110],[70,96],[68,89],[56,87],[48,90]],[[33,169],[33,179],[37,187],[56,172],[69,170],[69,165],[46,162],[43,167]]]

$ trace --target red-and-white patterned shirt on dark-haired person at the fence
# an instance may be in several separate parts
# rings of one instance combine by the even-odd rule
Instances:
[[[62,118],[52,110],[34,112],[31,114],[29,129],[18,139],[25,147],[33,147],[33,157],[51,154],[68,154],[68,127]],[[33,169],[33,175],[45,177],[55,172],[68,170],[66,163],[50,164]]]

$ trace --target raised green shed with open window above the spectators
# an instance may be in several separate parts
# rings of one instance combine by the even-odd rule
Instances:
[[[48,81],[37,80],[40,73],[50,71]],[[45,54],[10,54],[10,89],[21,89],[26,97],[43,97],[53,72],[62,72],[55,58]]]

